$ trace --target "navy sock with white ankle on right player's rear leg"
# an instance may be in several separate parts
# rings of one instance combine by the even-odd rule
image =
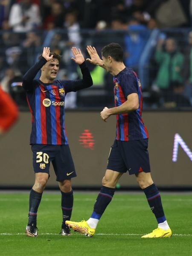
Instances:
[[[148,204],[157,219],[158,227],[159,224],[161,224],[162,229],[168,229],[169,225],[167,224],[166,217],[163,212],[161,197],[157,187],[155,184],[152,184],[143,189],[143,191],[145,192]]]

